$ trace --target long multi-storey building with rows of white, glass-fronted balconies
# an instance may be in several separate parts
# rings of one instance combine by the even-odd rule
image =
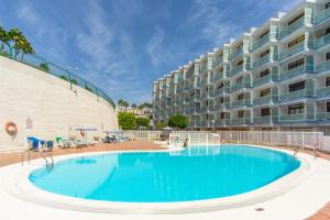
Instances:
[[[330,130],[330,1],[305,0],[153,84],[155,122]]]

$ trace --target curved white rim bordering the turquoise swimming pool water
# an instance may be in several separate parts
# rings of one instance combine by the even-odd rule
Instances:
[[[246,145],[262,148],[270,148],[272,151],[284,152],[292,154],[289,150],[272,148],[267,146],[258,146],[252,144],[228,144],[228,145]],[[179,151],[182,147],[169,147],[168,150],[160,151],[113,151],[113,152],[92,152],[92,153],[79,153],[70,155],[56,156],[56,162],[81,157],[90,155],[100,154],[116,154],[116,153],[141,153],[141,152],[175,152]],[[29,180],[29,175],[32,170],[42,167],[44,162],[42,160],[32,161],[33,164],[29,166],[21,166],[20,164],[9,165],[12,166],[11,169],[3,179],[3,187],[10,195],[33,204],[68,209],[75,211],[88,211],[88,212],[101,212],[101,213],[189,213],[189,212],[205,212],[205,211],[216,211],[223,209],[232,209],[246,207],[260,202],[264,202],[276,197],[279,197],[300,183],[304,179],[312,175],[317,165],[314,158],[308,154],[300,153],[297,158],[300,161],[300,166],[294,172],[272,182],[255,190],[216,198],[216,199],[205,199],[195,201],[178,201],[178,202],[114,202],[114,201],[100,201],[100,200],[89,200],[82,198],[75,198],[65,195],[58,195],[50,193],[37,188]],[[319,160],[319,158],[318,158]]]

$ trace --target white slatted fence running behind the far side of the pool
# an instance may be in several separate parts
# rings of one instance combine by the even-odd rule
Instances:
[[[124,134],[133,140],[160,140],[163,131],[131,130]],[[165,132],[166,133],[166,132]],[[293,146],[301,148],[323,150],[322,132],[292,132],[292,131],[172,131],[169,145],[210,145],[220,143],[242,143],[265,146]]]

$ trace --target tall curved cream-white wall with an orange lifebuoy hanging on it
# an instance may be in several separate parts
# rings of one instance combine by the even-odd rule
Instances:
[[[76,90],[74,92],[73,90]],[[0,57],[0,150],[23,146],[28,135],[55,140],[56,135],[81,138],[69,128],[92,127],[89,138],[102,130],[118,129],[114,109],[103,99],[80,87],[18,62]],[[26,120],[33,129],[26,129]],[[11,139],[4,131],[8,121],[19,132]]]

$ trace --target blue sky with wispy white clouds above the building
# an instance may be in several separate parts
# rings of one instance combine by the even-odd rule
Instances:
[[[152,82],[299,0],[0,0],[0,25],[113,100],[151,101]]]

